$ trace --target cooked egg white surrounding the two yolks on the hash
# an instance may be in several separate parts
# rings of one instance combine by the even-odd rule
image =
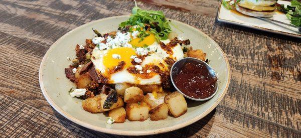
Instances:
[[[169,43],[170,41],[171,40],[169,39],[162,40],[162,42],[165,44]],[[142,63],[140,64],[142,67],[147,64],[153,64],[157,65],[162,71],[166,71],[168,69],[168,65],[164,61],[166,57],[172,57],[174,60],[179,60],[184,57],[184,53],[180,44],[172,47],[173,54],[171,55],[169,55],[167,51],[162,49],[157,41],[155,41],[152,45],[149,45],[148,49],[151,50],[149,51],[148,55],[142,60]],[[91,61],[93,62],[95,69],[100,71],[101,73],[105,72],[106,70],[106,67],[103,64],[103,57],[108,52],[108,50],[109,49],[100,50],[98,48],[94,48],[92,51],[92,57],[95,57],[95,59],[92,58]],[[161,76],[157,74],[152,78],[142,79],[134,74],[129,73],[126,68],[123,68],[122,70],[111,74],[109,83],[130,83],[139,85],[161,84]]]

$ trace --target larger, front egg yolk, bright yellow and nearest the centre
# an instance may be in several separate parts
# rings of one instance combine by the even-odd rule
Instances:
[[[113,58],[113,54],[120,55],[120,59]],[[124,68],[132,65],[130,56],[136,55],[135,51],[129,47],[119,47],[108,50],[108,52],[103,56],[103,65],[106,68],[113,68],[118,65],[119,62],[124,61]]]

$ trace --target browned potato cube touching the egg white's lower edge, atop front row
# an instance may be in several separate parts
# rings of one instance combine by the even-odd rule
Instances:
[[[125,89],[123,100],[125,103],[137,103],[143,101],[143,91],[138,87]]]

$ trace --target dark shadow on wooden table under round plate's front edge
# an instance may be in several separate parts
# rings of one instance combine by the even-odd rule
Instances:
[[[57,111],[52,109],[54,112],[54,115],[56,118],[59,120],[60,124],[64,126],[67,130],[69,130],[73,135],[77,137],[84,137],[84,138],[91,138],[91,137],[99,137],[99,138],[129,138],[126,136],[116,136],[116,135],[110,135],[110,134],[105,134],[105,133],[100,133],[94,130],[90,130],[88,128],[82,127],[80,125],[77,125],[68,119],[64,118],[62,115],[60,115]],[[209,113],[206,117],[203,119],[197,121],[196,123],[187,126],[185,128],[169,132],[169,133],[164,133],[164,134],[159,134],[159,135],[151,135],[151,136],[142,136],[142,138],[186,138],[193,136],[195,134],[198,134],[198,136],[201,137],[207,137],[213,122],[214,122],[214,114],[215,114],[216,109],[214,109],[211,113]],[[209,121],[211,122],[209,123]],[[206,127],[206,129],[203,129]]]

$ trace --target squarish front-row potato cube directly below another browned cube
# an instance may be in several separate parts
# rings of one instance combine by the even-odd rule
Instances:
[[[129,121],[144,121],[148,118],[148,105],[144,102],[127,103],[125,107],[126,117]]]

